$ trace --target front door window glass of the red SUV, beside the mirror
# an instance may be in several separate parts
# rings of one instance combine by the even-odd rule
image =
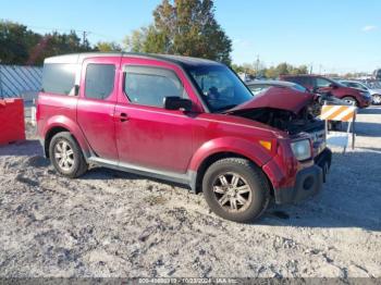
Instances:
[[[124,71],[124,91],[132,103],[162,108],[164,97],[186,97],[181,80],[170,70],[126,66]]]

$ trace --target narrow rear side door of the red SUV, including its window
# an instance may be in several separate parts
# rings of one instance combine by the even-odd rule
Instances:
[[[91,58],[83,63],[77,104],[78,124],[93,151],[118,161],[114,110],[120,57]]]

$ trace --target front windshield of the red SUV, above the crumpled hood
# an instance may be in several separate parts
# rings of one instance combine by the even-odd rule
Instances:
[[[230,69],[223,65],[188,67],[211,112],[222,112],[253,99],[253,94]]]

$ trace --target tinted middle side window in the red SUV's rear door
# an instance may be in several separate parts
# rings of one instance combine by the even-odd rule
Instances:
[[[114,89],[115,65],[88,64],[86,67],[85,97],[105,100]]]

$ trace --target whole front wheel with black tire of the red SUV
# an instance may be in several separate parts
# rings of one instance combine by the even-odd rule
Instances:
[[[258,219],[270,201],[270,186],[265,174],[241,158],[211,164],[202,179],[202,191],[216,214],[241,223]]]

